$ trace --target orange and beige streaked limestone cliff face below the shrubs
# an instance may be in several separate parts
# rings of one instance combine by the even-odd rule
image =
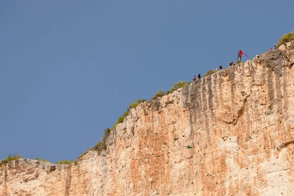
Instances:
[[[77,166],[2,165],[0,196],[293,196],[293,64],[294,41],[146,101]]]

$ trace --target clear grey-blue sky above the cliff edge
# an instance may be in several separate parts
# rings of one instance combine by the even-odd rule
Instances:
[[[253,58],[273,48],[294,29],[293,7],[293,0],[0,1],[0,159],[75,160],[132,100],[227,68],[239,49]]]

